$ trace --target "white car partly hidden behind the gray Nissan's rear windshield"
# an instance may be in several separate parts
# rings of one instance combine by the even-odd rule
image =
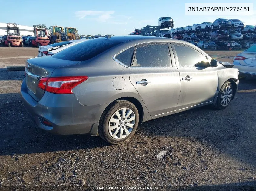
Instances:
[[[89,40],[89,39],[68,40],[68,41],[62,41],[59,43],[50,44],[47,46],[39,46],[37,57],[52,55],[52,54],[57,53],[63,49],[73,46],[77,43],[84,42],[85,40]]]

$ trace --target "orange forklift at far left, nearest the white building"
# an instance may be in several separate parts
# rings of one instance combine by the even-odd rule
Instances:
[[[16,23],[7,23],[6,32],[7,35],[3,36],[5,46],[24,46],[19,27],[17,27]]]

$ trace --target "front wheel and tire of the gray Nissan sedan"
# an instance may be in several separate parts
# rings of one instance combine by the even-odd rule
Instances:
[[[231,102],[233,94],[234,94],[234,88],[232,84],[229,81],[226,81],[222,85],[218,93],[217,101],[214,107],[219,110],[223,110],[226,107],[228,107],[229,103]]]

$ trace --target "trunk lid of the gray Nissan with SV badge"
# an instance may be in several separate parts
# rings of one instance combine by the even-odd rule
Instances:
[[[28,93],[39,102],[45,91],[38,88],[38,82],[42,77],[50,77],[56,68],[78,64],[80,61],[69,61],[45,56],[43,58],[32,58],[26,62],[26,84]]]

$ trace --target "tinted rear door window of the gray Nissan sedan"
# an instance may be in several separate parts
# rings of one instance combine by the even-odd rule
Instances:
[[[138,46],[132,66],[171,67],[168,43],[149,43]]]

